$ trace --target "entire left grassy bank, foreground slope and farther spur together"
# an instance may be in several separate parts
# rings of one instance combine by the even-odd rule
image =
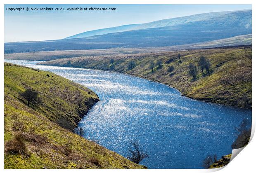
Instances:
[[[42,104],[25,104],[19,92],[27,86],[40,91]],[[54,123],[63,117],[75,124],[76,97],[81,111],[98,100],[53,73],[5,66],[5,168],[145,168]]]

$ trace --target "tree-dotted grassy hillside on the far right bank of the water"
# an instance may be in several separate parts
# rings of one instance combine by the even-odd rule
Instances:
[[[181,63],[178,54],[181,55]],[[199,71],[197,80],[193,81],[192,76],[188,74],[188,65],[189,63],[197,65],[200,56],[205,56],[211,61],[211,74],[206,75],[204,71],[205,75],[202,75]],[[114,59],[114,69],[111,68],[110,59]],[[161,68],[156,65],[159,60],[162,61]],[[128,70],[130,61],[135,63],[135,68],[132,70]],[[154,72],[149,67],[152,62],[155,64]],[[190,98],[224,105],[251,107],[251,46],[87,56],[47,61],[41,64],[123,72],[167,84]],[[175,68],[173,75],[167,72],[171,65]]]

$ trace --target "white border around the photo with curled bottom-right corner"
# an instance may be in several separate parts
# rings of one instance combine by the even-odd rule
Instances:
[[[255,6],[256,6],[256,1],[255,0],[93,0],[93,1],[88,1],[88,0],[2,0],[2,8],[1,8],[1,21],[2,21],[2,27],[1,27],[1,33],[2,33],[2,46],[0,48],[2,55],[4,54],[4,4],[252,4],[252,40],[254,42],[255,40],[255,35],[254,35],[254,31],[256,30],[255,28],[255,17],[256,13],[255,13]],[[17,28],[18,29],[18,28]],[[253,54],[252,57],[253,59],[255,58],[254,56],[254,46],[253,46]],[[4,57],[2,57],[0,59],[0,63],[2,65],[2,68],[0,70],[0,77],[1,80],[4,80],[4,68],[3,68],[3,64],[4,64]],[[252,79],[253,79],[253,83],[255,81],[255,63],[254,60],[252,61]],[[1,83],[0,85],[0,89],[2,91],[2,94],[0,94],[0,110],[1,110],[1,146],[0,146],[0,152],[1,152],[1,157],[0,157],[0,168],[3,169],[4,168],[4,136],[3,136],[3,131],[4,131],[4,109],[3,109],[3,105],[4,105],[4,82]],[[255,91],[255,87],[253,85],[252,87],[253,90],[253,96],[254,96],[254,91]],[[254,99],[253,99],[254,100]],[[252,102],[252,120],[253,120],[253,128],[252,128],[252,132],[254,134],[255,131],[255,103],[254,101]],[[253,136],[252,134],[252,136]],[[66,173],[66,172],[104,172],[104,173],[113,173],[113,172],[147,172],[147,173],[151,173],[151,172],[190,172],[190,173],[201,173],[201,172],[213,172],[213,171],[218,171],[220,170],[220,173],[231,173],[231,172],[248,172],[251,173],[255,170],[255,157],[254,155],[256,154],[255,152],[255,146],[256,146],[256,142],[255,140],[252,140],[245,148],[244,150],[239,153],[238,157],[235,157],[234,160],[232,160],[230,162],[230,164],[228,164],[228,166],[226,166],[223,169],[209,169],[209,170],[205,170],[205,169],[148,169],[148,170],[112,170],[112,169],[90,169],[90,170],[34,170],[34,169],[24,169],[24,170],[12,170],[12,169],[6,169],[3,170],[5,172],[45,172],[45,171],[50,171],[50,172],[61,172],[61,173]]]

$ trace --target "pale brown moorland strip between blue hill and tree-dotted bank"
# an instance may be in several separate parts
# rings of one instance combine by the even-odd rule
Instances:
[[[5,54],[5,59],[49,61],[61,58],[73,58],[81,56],[100,56],[116,54],[139,54],[164,51],[178,51],[185,49],[201,49],[225,46],[251,45],[251,34],[239,35],[235,37],[213,40],[209,42],[199,42],[194,44],[182,44],[170,47],[145,47],[145,48],[114,48],[114,49],[91,49],[91,50],[64,50],[64,51],[36,51]]]

